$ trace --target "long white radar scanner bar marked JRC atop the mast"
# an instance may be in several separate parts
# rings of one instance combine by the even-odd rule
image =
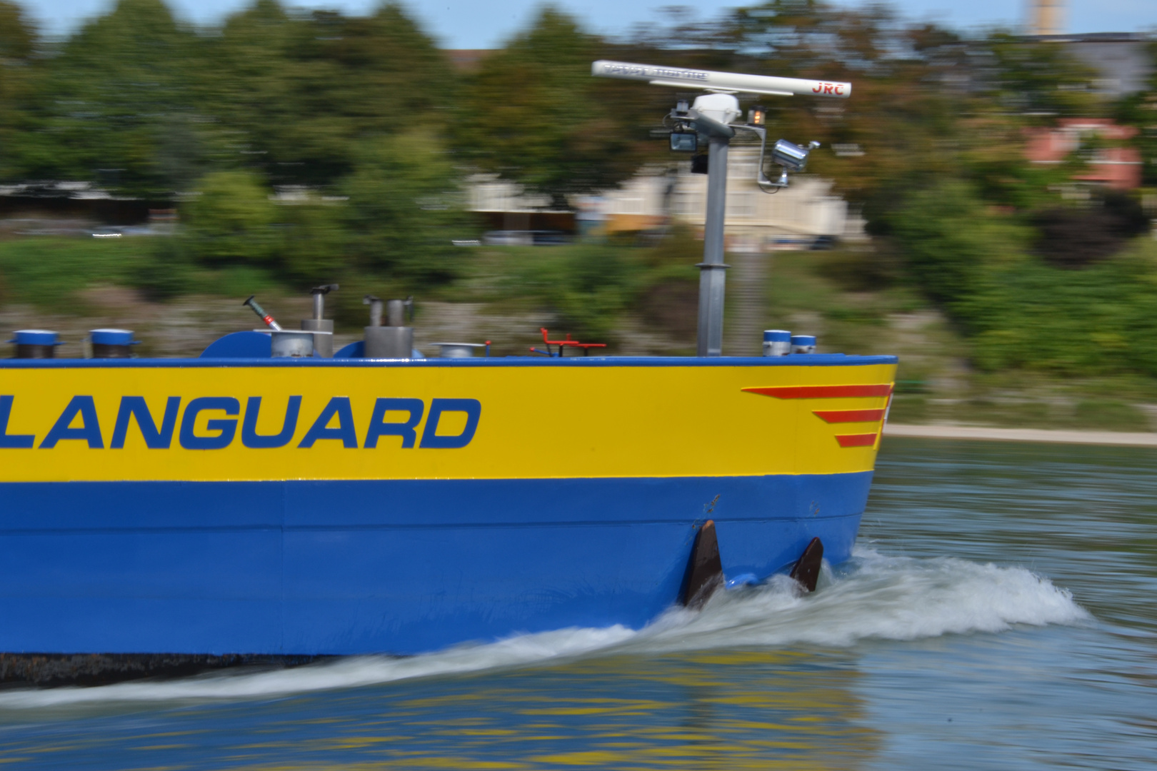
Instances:
[[[698,88],[706,91],[767,94],[771,96],[832,96],[841,99],[852,96],[852,83],[834,83],[823,80],[803,80],[799,77],[717,73],[710,69],[659,67],[656,65],[636,65],[629,61],[609,61],[606,59],[599,59],[594,62],[590,67],[590,74],[596,77],[641,80],[651,86]]]

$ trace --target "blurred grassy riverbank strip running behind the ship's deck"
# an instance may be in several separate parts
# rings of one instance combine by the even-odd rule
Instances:
[[[89,331],[105,327],[134,331],[138,356],[198,356],[221,335],[258,324],[242,305],[250,295],[282,324],[311,314],[308,291],[277,270],[190,264],[183,272],[141,273],[150,258],[138,250],[154,242],[113,240],[0,240],[0,329],[54,329],[62,358],[83,355]],[[326,314],[336,321],[337,347],[361,339],[364,295],[412,294],[414,341],[429,354],[436,341],[463,340],[491,341],[492,356],[525,355],[546,327],[605,342],[617,356],[686,356],[695,350],[693,265],[701,249],[687,233],[658,246],[480,246],[463,250],[456,277],[443,283],[410,286],[366,272],[337,276],[341,289],[326,298]],[[728,279],[724,351],[758,356],[762,331],[779,328],[817,335],[823,353],[894,354],[891,418],[934,431],[927,436],[945,436],[928,428],[945,425],[966,427],[949,431],[951,438],[1152,445],[1157,377],[980,369],[972,343],[919,291],[872,279],[874,260],[886,258],[864,245],[729,257],[736,269]],[[159,275],[171,283],[154,286]],[[171,291],[157,294],[165,288]],[[1129,433],[1141,438],[1122,437]]]

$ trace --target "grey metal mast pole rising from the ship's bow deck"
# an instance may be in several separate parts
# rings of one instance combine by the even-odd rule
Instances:
[[[712,136],[707,149],[707,221],[699,264],[699,356],[723,355],[723,224],[727,216],[727,155],[730,139]]]

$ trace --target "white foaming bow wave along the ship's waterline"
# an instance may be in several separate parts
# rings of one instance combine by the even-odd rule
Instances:
[[[1023,568],[857,550],[835,574],[825,566],[815,594],[801,595],[793,581],[778,577],[766,586],[720,592],[699,613],[672,609],[640,631],[618,625],[563,629],[401,659],[352,657],[273,672],[7,691],[0,692],[0,709],[275,698],[582,655],[801,644],[843,647],[867,638],[912,640],[1089,620],[1067,590]]]

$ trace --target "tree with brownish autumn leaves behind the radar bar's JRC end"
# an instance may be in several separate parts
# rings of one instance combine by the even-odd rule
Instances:
[[[852,82],[849,99],[758,101],[768,108],[769,139],[819,141],[809,171],[834,178],[874,218],[894,208],[898,190],[952,171],[945,148],[966,101],[958,80],[966,46],[948,30],[906,25],[883,6],[772,0],[685,37],[693,66],[710,55],[721,69]]]

